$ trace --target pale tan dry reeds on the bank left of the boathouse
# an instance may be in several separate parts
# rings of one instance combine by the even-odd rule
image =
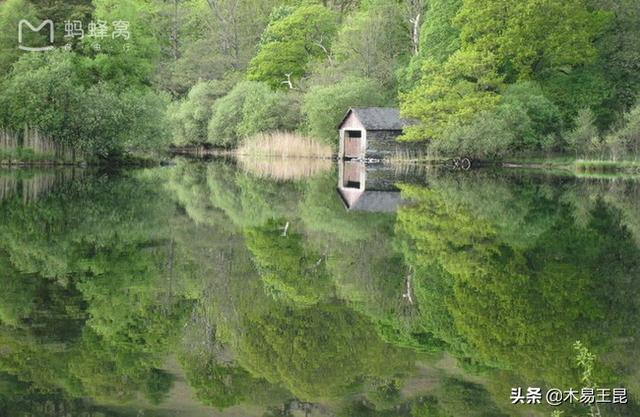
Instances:
[[[292,132],[260,133],[247,138],[236,153],[250,157],[331,159],[330,145]]]

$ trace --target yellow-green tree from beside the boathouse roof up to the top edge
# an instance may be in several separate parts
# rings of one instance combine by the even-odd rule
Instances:
[[[444,13],[444,27],[452,10]],[[593,62],[594,40],[608,18],[590,11],[584,0],[463,2],[453,18],[460,49],[451,53],[457,47],[451,35],[436,43],[449,47],[427,59],[422,80],[401,95],[403,114],[421,122],[407,129],[404,139],[440,140],[448,129],[495,108],[506,84],[570,73]]]

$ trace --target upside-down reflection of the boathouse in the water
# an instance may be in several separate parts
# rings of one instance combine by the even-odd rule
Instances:
[[[388,167],[345,161],[338,170],[338,194],[348,210],[393,213],[398,209],[402,198]]]

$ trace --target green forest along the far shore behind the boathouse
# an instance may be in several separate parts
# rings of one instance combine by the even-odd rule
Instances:
[[[17,49],[22,19],[51,19],[55,48]],[[416,121],[400,140],[429,154],[634,160],[638,22],[635,0],[6,0],[0,157],[232,149],[267,132],[335,151],[349,107],[390,106]]]

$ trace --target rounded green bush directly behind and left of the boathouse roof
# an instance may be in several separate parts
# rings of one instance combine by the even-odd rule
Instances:
[[[309,133],[336,145],[338,123],[349,107],[388,104],[380,91],[380,85],[366,78],[347,78],[335,85],[312,87],[304,96],[302,108]]]

